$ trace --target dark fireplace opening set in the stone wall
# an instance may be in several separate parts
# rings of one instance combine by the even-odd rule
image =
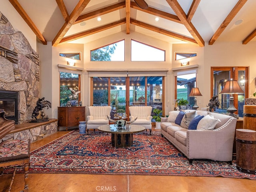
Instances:
[[[5,112],[5,118],[18,124],[18,92],[0,90],[0,111]]]

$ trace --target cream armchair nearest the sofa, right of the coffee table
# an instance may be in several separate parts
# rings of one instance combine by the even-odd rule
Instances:
[[[137,120],[134,121],[132,124],[144,126],[145,129],[150,131],[151,135],[151,116],[152,107],[151,106],[130,106],[130,121],[134,120],[137,117]]]

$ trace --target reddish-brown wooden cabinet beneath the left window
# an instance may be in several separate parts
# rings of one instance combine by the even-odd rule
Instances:
[[[80,121],[85,121],[85,107],[58,107],[58,130],[60,126],[78,126]]]

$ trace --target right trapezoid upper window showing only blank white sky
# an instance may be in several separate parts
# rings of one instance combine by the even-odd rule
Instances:
[[[132,61],[165,61],[165,51],[144,43],[132,40]]]

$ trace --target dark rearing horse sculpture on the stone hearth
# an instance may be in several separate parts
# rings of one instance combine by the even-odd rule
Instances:
[[[49,109],[52,108],[52,104],[50,101],[45,101],[44,100],[44,97],[42,97],[41,99],[38,98],[37,102],[36,102],[36,107],[34,108],[33,110],[33,113],[32,113],[32,120],[30,121],[31,123],[38,123],[38,122],[44,122],[44,121],[49,121],[48,120],[48,117],[44,118],[45,114],[44,114],[44,108]],[[39,111],[41,111],[41,116],[42,118],[38,119],[37,116],[39,115]],[[35,118],[35,119],[33,119]]]

